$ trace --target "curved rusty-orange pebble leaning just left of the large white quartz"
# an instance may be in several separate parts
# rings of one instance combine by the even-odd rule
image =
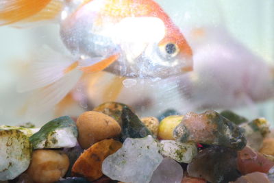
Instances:
[[[101,171],[103,160],[122,147],[122,143],[113,139],[105,139],[86,149],[73,164],[72,175],[80,175],[90,181],[103,175]]]

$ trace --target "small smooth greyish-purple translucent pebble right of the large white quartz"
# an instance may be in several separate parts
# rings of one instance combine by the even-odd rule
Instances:
[[[150,183],[180,183],[183,169],[179,163],[170,158],[164,158],[152,174]]]

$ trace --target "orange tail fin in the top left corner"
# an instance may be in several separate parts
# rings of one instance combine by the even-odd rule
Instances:
[[[54,19],[61,11],[61,0],[0,0],[0,25]]]

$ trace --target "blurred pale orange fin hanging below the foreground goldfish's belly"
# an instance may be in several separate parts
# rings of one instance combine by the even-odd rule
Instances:
[[[123,89],[125,77],[114,76],[112,81],[103,90],[103,101],[116,101]]]

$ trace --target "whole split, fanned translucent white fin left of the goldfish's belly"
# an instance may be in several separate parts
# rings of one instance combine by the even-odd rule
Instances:
[[[19,93],[32,91],[25,112],[29,117],[54,108],[76,86],[83,73],[77,69],[78,61],[74,58],[50,49],[41,54],[42,60],[32,63],[17,85]]]

